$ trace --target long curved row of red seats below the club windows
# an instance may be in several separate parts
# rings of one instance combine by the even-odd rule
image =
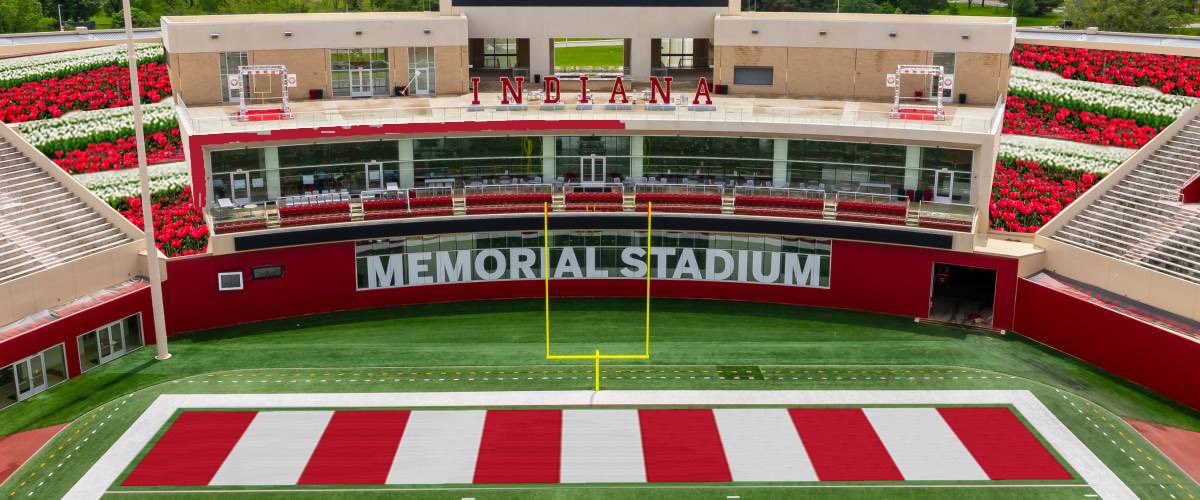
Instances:
[[[554,195],[542,193],[467,194],[456,209],[450,194],[422,195],[409,192],[408,197],[389,199],[362,199],[360,204],[349,200],[324,201],[304,205],[280,206],[278,225],[296,227],[350,222],[355,219],[379,221],[410,217],[437,217],[452,215],[540,213],[546,205],[556,207]],[[742,216],[768,216],[788,218],[836,219],[875,224],[908,225],[907,200],[834,200],[827,205],[824,198],[788,195],[739,194],[722,197],[716,193],[641,192],[626,198],[620,192],[569,192],[564,193],[560,210],[568,212],[646,212],[650,204],[655,212],[671,213],[733,213]],[[728,205],[728,206],[727,206]],[[917,217],[922,228],[970,231],[971,222],[965,219]],[[268,228],[266,219],[218,223],[218,233],[235,233]]]

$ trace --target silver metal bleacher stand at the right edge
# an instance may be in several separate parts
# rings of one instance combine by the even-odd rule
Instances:
[[[1200,283],[1200,215],[1178,203],[1200,173],[1200,118],[1169,138],[1051,237]]]

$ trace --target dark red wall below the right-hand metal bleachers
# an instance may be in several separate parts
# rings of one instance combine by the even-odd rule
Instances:
[[[1028,279],[1013,330],[1200,410],[1200,342]]]

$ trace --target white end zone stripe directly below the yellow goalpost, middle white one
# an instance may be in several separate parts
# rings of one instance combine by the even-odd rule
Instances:
[[[637,410],[563,411],[563,483],[644,483]]]

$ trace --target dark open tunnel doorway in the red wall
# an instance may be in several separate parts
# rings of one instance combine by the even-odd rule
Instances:
[[[996,302],[996,270],[934,264],[929,319],[991,327]]]

